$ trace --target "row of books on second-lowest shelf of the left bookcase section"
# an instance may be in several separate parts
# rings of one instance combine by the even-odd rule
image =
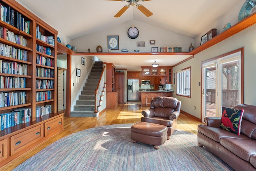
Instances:
[[[0,92],[0,107],[21,105],[27,102],[26,91]]]

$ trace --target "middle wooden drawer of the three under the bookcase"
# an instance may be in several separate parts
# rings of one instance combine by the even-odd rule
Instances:
[[[23,131],[21,133],[18,133],[16,135],[13,135],[10,139],[11,145],[10,145],[10,151],[11,155],[14,155],[15,153],[18,153],[19,151],[22,151],[23,149],[33,148],[37,141],[43,138],[42,135],[43,125],[40,124],[38,126],[32,127],[26,131]]]

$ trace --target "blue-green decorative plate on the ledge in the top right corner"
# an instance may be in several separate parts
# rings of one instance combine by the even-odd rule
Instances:
[[[238,21],[243,20],[254,12],[256,12],[256,0],[246,0],[239,12]]]

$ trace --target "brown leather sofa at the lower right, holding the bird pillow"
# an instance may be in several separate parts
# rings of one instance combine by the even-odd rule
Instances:
[[[240,104],[244,109],[241,134],[220,128],[220,117],[206,117],[206,125],[198,125],[197,141],[237,171],[256,170],[256,106]]]

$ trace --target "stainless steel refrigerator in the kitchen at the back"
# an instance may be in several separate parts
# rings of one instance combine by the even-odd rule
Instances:
[[[128,79],[127,81],[127,101],[138,101],[139,100],[139,80]]]

